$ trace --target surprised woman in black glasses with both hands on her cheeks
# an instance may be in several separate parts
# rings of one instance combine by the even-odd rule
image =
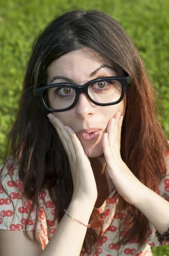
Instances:
[[[167,243],[169,144],[153,90],[112,17],[77,10],[44,29],[2,167],[2,255],[148,256]]]

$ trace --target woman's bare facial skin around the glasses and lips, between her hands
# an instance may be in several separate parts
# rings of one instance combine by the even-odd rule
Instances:
[[[48,84],[68,82],[65,79],[55,79],[54,76],[64,76],[74,81],[75,84],[85,84],[92,79],[105,76],[117,76],[115,71],[109,67],[102,67],[94,73],[101,65],[113,68],[111,61],[101,58],[90,48],[82,48],[69,52],[48,67]],[[93,73],[93,74],[92,74]],[[125,98],[116,105],[97,106],[90,102],[85,93],[79,95],[77,104],[70,110],[55,112],[54,114],[65,124],[73,128],[88,157],[100,157],[103,155],[101,145],[102,135],[107,132],[107,124],[117,111],[124,116]],[[79,136],[82,129],[97,128],[99,137],[94,140],[85,140]]]

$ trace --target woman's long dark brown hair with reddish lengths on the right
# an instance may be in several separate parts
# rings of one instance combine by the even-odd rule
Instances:
[[[7,159],[11,154],[17,160],[23,197],[33,200],[32,207],[38,206],[39,191],[49,190],[56,206],[54,220],[57,218],[58,223],[70,204],[73,180],[67,154],[48,120],[48,112],[34,97],[33,88],[46,83],[47,68],[53,61],[81,47],[89,47],[112,61],[119,67],[118,75],[122,71],[131,77],[121,130],[122,160],[138,180],[153,191],[158,188],[162,174],[166,173],[163,153],[169,145],[156,116],[156,91],[144,71],[137,49],[121,26],[107,14],[96,10],[67,12],[48,24],[34,42],[4,157]],[[119,199],[116,211],[125,209],[128,212],[124,221],[127,234],[118,244],[126,244],[138,237],[141,246],[149,229],[148,219],[117,192],[115,195]],[[92,228],[87,229],[83,247],[86,251],[89,248],[89,254],[102,232],[101,218],[94,209],[91,219],[100,221],[101,230],[98,237]],[[30,239],[27,232],[25,236]],[[35,234],[34,240],[37,241]]]

